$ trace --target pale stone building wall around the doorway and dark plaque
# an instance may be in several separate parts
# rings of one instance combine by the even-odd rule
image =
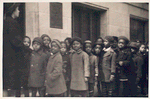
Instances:
[[[148,5],[142,3],[83,3],[107,11],[101,14],[100,36],[124,35],[130,38],[130,15],[148,18]],[[64,40],[72,35],[72,3],[63,2],[63,29],[50,28],[50,5],[46,3],[26,3],[26,35],[48,34],[52,39]]]

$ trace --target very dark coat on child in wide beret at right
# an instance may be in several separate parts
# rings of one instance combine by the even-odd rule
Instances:
[[[129,78],[132,78],[132,73],[134,73],[131,51],[129,48],[124,48],[122,50],[118,49],[117,52],[116,65],[119,79],[128,80]],[[123,62],[123,66],[119,65],[119,61]]]

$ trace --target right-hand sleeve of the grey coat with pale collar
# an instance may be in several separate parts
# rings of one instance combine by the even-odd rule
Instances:
[[[112,59],[111,59],[111,74],[115,74],[116,72],[116,57],[117,57],[117,54],[114,52],[112,54]]]

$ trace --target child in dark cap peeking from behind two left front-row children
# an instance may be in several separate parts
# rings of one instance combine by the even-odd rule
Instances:
[[[41,39],[43,40],[43,52],[46,54],[50,54],[50,43],[51,43],[51,38],[47,34],[43,34],[41,36]]]

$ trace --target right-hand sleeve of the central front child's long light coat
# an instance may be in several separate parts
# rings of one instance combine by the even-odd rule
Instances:
[[[90,77],[89,56],[86,53],[83,54],[83,63],[84,63],[84,76]]]

